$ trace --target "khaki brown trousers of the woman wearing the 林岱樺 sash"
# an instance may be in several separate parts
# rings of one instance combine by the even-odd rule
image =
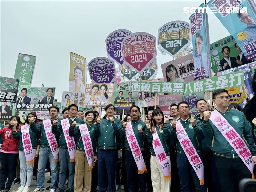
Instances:
[[[92,170],[84,151],[76,150],[76,166],[75,166],[75,192],[90,192],[92,183]]]

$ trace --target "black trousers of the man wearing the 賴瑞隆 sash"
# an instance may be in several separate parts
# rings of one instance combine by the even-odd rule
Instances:
[[[214,156],[222,192],[239,192],[239,182],[252,178],[252,174],[240,158]]]

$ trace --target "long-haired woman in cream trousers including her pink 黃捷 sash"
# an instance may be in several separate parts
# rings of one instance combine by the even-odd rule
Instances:
[[[147,139],[148,144],[152,144],[150,152],[150,169],[151,169],[151,179],[152,186],[154,192],[165,192],[170,191],[171,185],[171,162],[170,162],[170,152],[169,152],[169,142],[167,140],[170,139],[170,132],[168,130],[169,119],[165,117],[160,109],[155,109],[152,113],[152,121],[151,124],[147,123]],[[159,139],[157,138],[156,134]],[[154,134],[154,137],[153,137]],[[159,147],[158,147],[159,146]],[[158,148],[156,148],[158,147]],[[162,149],[162,151],[160,149]],[[157,153],[157,154],[156,154]],[[159,158],[161,156],[162,159]],[[166,157],[168,161],[164,164],[165,168],[170,168],[170,173],[165,174],[162,171],[163,164],[160,162]],[[169,165],[168,165],[169,163]]]

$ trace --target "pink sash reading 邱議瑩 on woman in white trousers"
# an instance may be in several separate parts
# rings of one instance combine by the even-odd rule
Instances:
[[[25,152],[26,164],[34,164],[34,154],[32,143],[29,134],[29,125],[23,125],[20,127],[21,130],[21,139],[23,144],[23,149]]]

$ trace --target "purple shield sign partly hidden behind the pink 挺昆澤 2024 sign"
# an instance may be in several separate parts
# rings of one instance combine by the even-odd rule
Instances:
[[[129,30],[118,29],[110,33],[105,40],[108,58],[114,60],[120,66],[122,66],[124,62],[122,58],[121,42],[125,37],[131,34],[132,32]]]

